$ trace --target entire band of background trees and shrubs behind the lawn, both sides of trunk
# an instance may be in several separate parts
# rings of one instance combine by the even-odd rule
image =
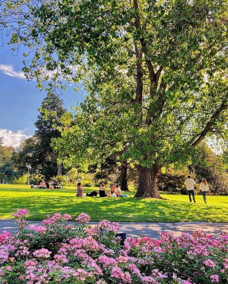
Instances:
[[[100,186],[120,183],[122,189],[138,186],[138,172],[129,163],[117,162],[116,155],[107,157],[100,165],[89,165],[89,174],[77,168],[65,169],[57,164],[57,151],[52,148],[52,141],[60,137],[58,127],[61,116],[66,114],[63,101],[56,94],[48,95],[38,109],[39,115],[35,122],[34,136],[20,142],[16,149],[12,146],[3,146],[0,138],[0,179],[8,183],[27,182],[26,163],[31,164],[30,183],[37,184],[42,178],[59,176],[62,183],[74,185],[78,180],[83,186]],[[158,188],[165,192],[180,192],[186,194],[183,181],[190,173],[197,183],[206,178],[212,194],[228,194],[228,176],[226,155],[216,155],[208,143],[201,142],[197,146],[195,156],[188,164],[170,164],[163,168],[158,175]],[[60,170],[60,171],[59,171]],[[61,177],[62,176],[62,177]]]

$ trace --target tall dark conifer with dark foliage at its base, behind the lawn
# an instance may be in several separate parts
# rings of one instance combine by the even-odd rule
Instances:
[[[26,173],[26,163],[31,164],[32,173],[46,179],[61,175],[62,163],[57,163],[58,152],[51,147],[51,139],[60,137],[58,119],[66,112],[63,101],[54,93],[48,94],[38,109],[39,114],[35,135],[20,143],[15,165],[21,173]]]

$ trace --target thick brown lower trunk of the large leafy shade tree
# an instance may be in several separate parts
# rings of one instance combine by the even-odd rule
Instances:
[[[139,185],[134,197],[164,199],[159,195],[156,184],[160,168],[156,164],[149,169],[141,165],[138,166]]]

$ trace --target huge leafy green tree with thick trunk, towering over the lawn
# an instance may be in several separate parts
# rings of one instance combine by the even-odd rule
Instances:
[[[89,92],[61,121],[60,158],[86,167],[118,153],[138,170],[135,196],[156,198],[163,165],[226,139],[227,22],[227,0],[7,0],[2,11],[10,42],[34,50],[28,79],[50,90],[83,79]]]

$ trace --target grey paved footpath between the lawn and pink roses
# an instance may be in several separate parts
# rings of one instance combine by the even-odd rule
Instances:
[[[41,221],[28,221],[41,224]],[[0,232],[2,230],[13,231],[15,226],[14,220],[0,220]],[[91,222],[93,225],[96,222]],[[193,233],[195,230],[203,230],[218,238],[221,232],[228,232],[228,223],[207,223],[207,222],[183,222],[183,223],[128,223],[119,222],[120,232],[127,232],[127,237],[137,237],[140,234],[153,239],[160,237],[159,232],[173,232],[178,236],[182,232]]]

